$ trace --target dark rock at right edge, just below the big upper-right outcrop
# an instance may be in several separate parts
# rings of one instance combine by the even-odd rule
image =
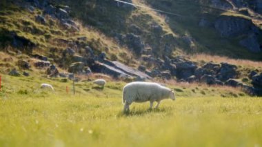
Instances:
[[[248,48],[248,50],[251,52],[262,51],[261,45],[259,44],[259,41],[255,35],[250,35],[248,38],[239,41],[239,44],[245,48]]]

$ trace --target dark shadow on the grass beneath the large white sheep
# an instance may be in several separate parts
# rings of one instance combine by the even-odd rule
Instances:
[[[159,112],[167,112],[169,108],[152,108],[152,109],[139,109],[136,110],[135,108],[132,108],[130,112],[119,112],[118,116],[123,117],[123,116],[143,116],[147,114],[152,114],[152,113],[159,113]]]

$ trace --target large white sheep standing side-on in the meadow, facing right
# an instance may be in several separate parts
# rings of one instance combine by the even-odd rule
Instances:
[[[158,108],[160,101],[163,99],[174,100],[174,92],[170,88],[161,86],[157,83],[135,81],[126,84],[123,88],[123,104],[124,112],[129,111],[129,106],[132,102],[150,101],[150,108],[152,108],[154,101],[157,101],[155,108]]]

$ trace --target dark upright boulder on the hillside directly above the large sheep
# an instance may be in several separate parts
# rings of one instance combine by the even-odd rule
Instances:
[[[141,37],[134,35],[132,33],[126,35],[125,43],[128,45],[128,48],[132,49],[136,55],[140,55],[145,46]]]

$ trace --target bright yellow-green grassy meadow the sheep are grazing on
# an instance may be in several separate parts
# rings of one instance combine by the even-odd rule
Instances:
[[[132,104],[123,114],[122,81],[80,81],[73,95],[72,81],[2,79],[0,146],[262,146],[262,99],[238,89],[168,83],[176,101],[157,110]]]

